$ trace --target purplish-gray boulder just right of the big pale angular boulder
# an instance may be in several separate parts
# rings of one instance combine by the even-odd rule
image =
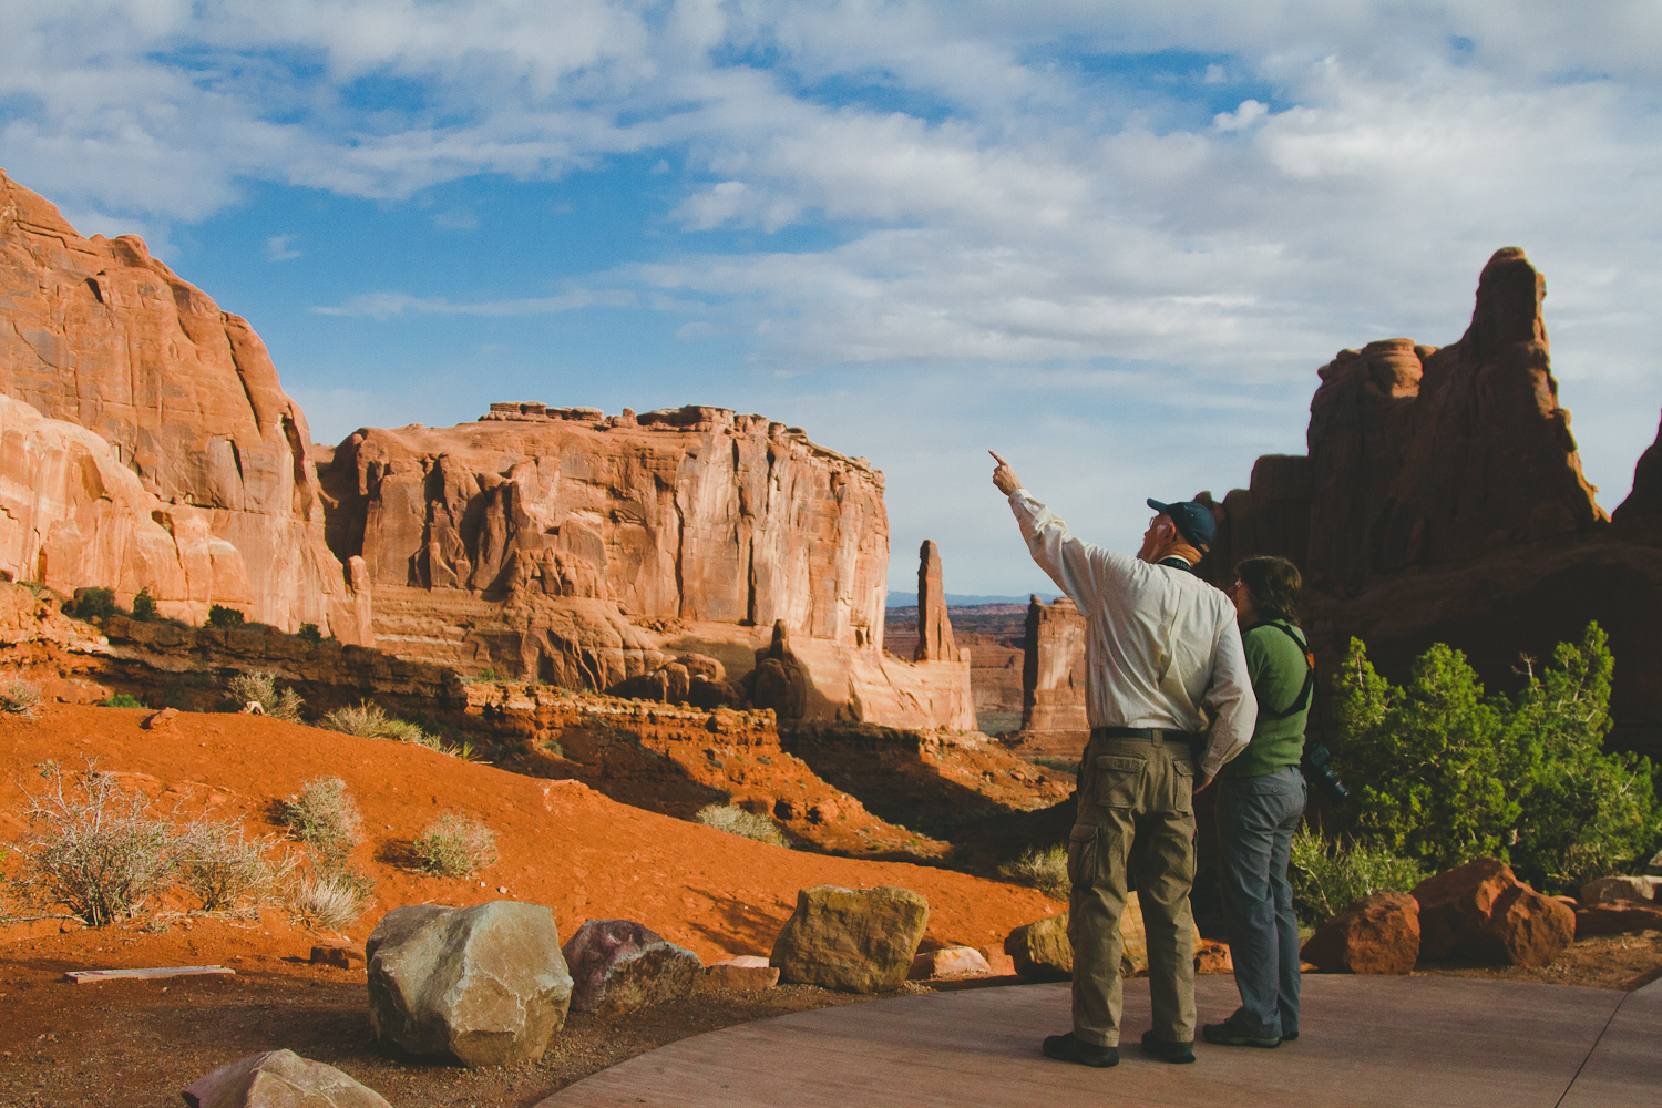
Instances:
[[[693,992],[705,963],[645,924],[588,920],[565,944],[572,1012],[623,1015]]]

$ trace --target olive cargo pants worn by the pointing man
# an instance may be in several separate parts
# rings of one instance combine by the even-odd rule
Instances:
[[[1074,882],[1067,937],[1074,944],[1074,1035],[1120,1042],[1120,912],[1127,864],[1148,934],[1155,1038],[1195,1038],[1195,766],[1177,738],[1092,736],[1079,774],[1079,816],[1067,846]]]

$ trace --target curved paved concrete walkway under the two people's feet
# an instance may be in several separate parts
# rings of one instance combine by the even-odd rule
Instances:
[[[1197,982],[1200,1018],[1238,1003]],[[1067,985],[1014,985],[821,1008],[671,1043],[542,1101],[547,1108],[766,1105],[942,1108],[1655,1108],[1662,982],[1634,993],[1448,977],[1310,975],[1303,1035],[1276,1050],[1197,1045],[1143,1058],[1148,982],[1125,982],[1120,1065],[1039,1053],[1069,1028]]]

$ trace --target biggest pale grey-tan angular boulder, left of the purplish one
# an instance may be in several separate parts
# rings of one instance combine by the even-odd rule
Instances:
[[[376,1038],[469,1066],[535,1061],[572,1000],[553,912],[492,900],[394,909],[366,944]]]

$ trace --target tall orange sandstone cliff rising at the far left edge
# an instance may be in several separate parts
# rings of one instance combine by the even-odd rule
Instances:
[[[140,238],[85,239],[3,173],[0,312],[0,392],[96,434],[105,458],[133,477],[106,497],[108,468],[93,477],[93,463],[76,462],[91,483],[75,490],[57,480],[60,500],[33,507],[48,527],[12,527],[0,568],[60,588],[110,586],[121,603],[148,583],[163,615],[201,621],[223,603],[284,630],[316,623],[362,641],[362,611],[324,543],[306,417],[244,319],[219,311]],[[50,472],[50,458],[80,450],[65,440],[50,424],[8,420],[7,450],[25,467]],[[140,493],[145,503],[133,498]],[[106,518],[111,535],[98,525],[98,535],[57,528],[53,537],[40,513],[60,507],[76,525]],[[168,543],[153,528],[168,532]],[[65,555],[65,543],[86,553]],[[166,545],[176,552],[166,555]],[[204,566],[191,552],[209,547]],[[73,565],[63,566],[65,556]]]

